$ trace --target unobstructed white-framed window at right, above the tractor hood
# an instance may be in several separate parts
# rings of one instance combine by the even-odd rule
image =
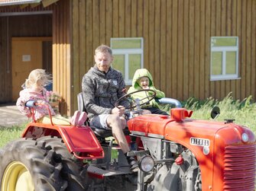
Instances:
[[[238,37],[211,38],[211,81],[238,79]]]

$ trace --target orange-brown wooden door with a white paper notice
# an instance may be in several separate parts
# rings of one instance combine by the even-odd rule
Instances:
[[[11,71],[12,101],[16,101],[21,85],[29,73],[42,68],[42,40],[37,38],[12,38],[11,40]]]

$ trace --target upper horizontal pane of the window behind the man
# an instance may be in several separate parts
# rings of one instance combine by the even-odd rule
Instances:
[[[141,49],[141,39],[112,39],[112,49]]]

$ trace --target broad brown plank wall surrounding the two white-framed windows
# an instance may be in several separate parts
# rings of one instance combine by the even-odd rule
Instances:
[[[73,97],[93,50],[111,37],[144,37],[144,68],[167,97],[255,97],[255,10],[256,0],[73,0]],[[239,37],[241,79],[209,81],[215,36]]]

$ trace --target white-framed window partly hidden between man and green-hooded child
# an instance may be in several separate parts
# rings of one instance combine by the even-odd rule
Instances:
[[[122,72],[125,84],[131,85],[134,72],[143,68],[143,38],[111,38],[110,46],[112,67]]]

